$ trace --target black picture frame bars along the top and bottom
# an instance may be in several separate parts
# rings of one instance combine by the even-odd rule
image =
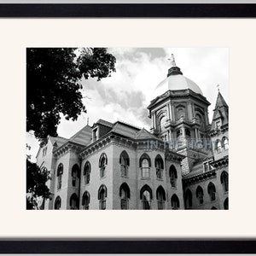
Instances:
[[[256,18],[256,4],[0,4],[1,18]],[[255,239],[0,239],[0,253],[256,253]]]

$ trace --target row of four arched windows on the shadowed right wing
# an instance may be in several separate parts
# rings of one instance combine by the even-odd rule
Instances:
[[[229,175],[227,172],[222,172],[220,176],[220,182],[222,183],[224,192],[229,191]],[[207,186],[207,194],[210,197],[210,201],[215,201],[216,199],[216,188],[215,185],[210,182]],[[195,196],[198,201],[199,205],[202,205],[204,203],[204,192],[201,186],[198,186],[195,190]],[[192,207],[192,192],[190,189],[187,189],[185,192],[185,207],[191,208]]]

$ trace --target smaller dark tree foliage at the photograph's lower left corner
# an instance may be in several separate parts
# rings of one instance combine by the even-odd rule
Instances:
[[[26,209],[38,208],[38,197],[43,199],[50,197],[46,185],[49,178],[47,169],[40,169],[37,164],[26,159]]]

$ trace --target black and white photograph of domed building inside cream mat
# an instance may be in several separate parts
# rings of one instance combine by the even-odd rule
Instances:
[[[26,48],[27,210],[229,210],[228,48]]]

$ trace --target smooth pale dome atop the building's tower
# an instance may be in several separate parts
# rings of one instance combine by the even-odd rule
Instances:
[[[179,67],[171,67],[165,80],[160,82],[154,90],[154,95],[160,96],[167,90],[193,90],[195,93],[203,95],[200,87],[192,80],[183,76]]]

